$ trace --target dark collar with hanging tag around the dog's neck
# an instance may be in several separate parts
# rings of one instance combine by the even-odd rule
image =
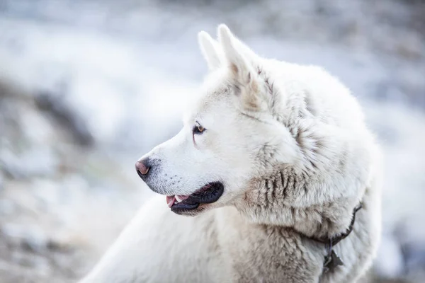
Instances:
[[[344,233],[341,233],[336,236],[331,236],[330,238],[318,238],[314,236],[305,236],[305,238],[309,238],[312,241],[323,243],[325,245],[325,248],[327,250],[327,255],[324,256],[324,263],[323,263],[323,273],[329,272],[329,270],[334,270],[336,267],[340,265],[344,265],[344,262],[339,258],[339,256],[336,254],[335,250],[333,250],[334,246],[336,246],[337,243],[344,240],[344,238],[348,237],[350,235],[351,231],[353,231],[354,222],[356,221],[356,213],[363,207],[363,204],[358,204],[357,207],[354,207],[353,209],[353,217],[351,218],[350,226],[348,226],[348,229]]]

